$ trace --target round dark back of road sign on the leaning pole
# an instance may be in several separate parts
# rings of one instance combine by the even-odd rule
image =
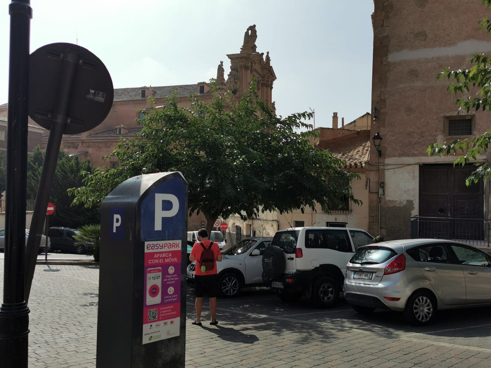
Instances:
[[[76,53],[78,64],[73,78],[66,117],[56,115],[63,98],[63,63],[67,52]],[[53,121],[67,119],[64,134],[77,134],[98,126],[108,115],[114,89],[106,66],[93,53],[78,45],[55,43],[34,51],[29,58],[29,116],[50,130]],[[64,121],[61,121],[63,123]]]

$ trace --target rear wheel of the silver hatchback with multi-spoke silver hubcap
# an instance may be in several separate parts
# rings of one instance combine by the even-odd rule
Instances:
[[[435,296],[425,290],[416,291],[406,302],[404,316],[410,324],[424,326],[435,318]]]

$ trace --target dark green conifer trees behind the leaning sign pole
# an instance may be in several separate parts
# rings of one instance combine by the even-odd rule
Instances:
[[[44,161],[44,151],[35,148],[27,158],[27,198],[35,199]],[[93,171],[89,160],[80,161],[76,156],[69,156],[61,151],[53,179],[50,202],[56,206],[56,212],[50,216],[50,226],[78,228],[87,223],[100,221],[99,208],[86,209],[82,205],[71,206],[73,198],[67,189],[79,187],[85,173]]]

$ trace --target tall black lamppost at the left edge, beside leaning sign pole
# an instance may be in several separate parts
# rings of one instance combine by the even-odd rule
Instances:
[[[9,5],[5,267],[0,307],[0,367],[27,368],[29,309],[24,299],[30,0]]]

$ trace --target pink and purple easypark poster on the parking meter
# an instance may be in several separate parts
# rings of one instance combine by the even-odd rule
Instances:
[[[181,240],[145,241],[143,343],[179,336]]]

